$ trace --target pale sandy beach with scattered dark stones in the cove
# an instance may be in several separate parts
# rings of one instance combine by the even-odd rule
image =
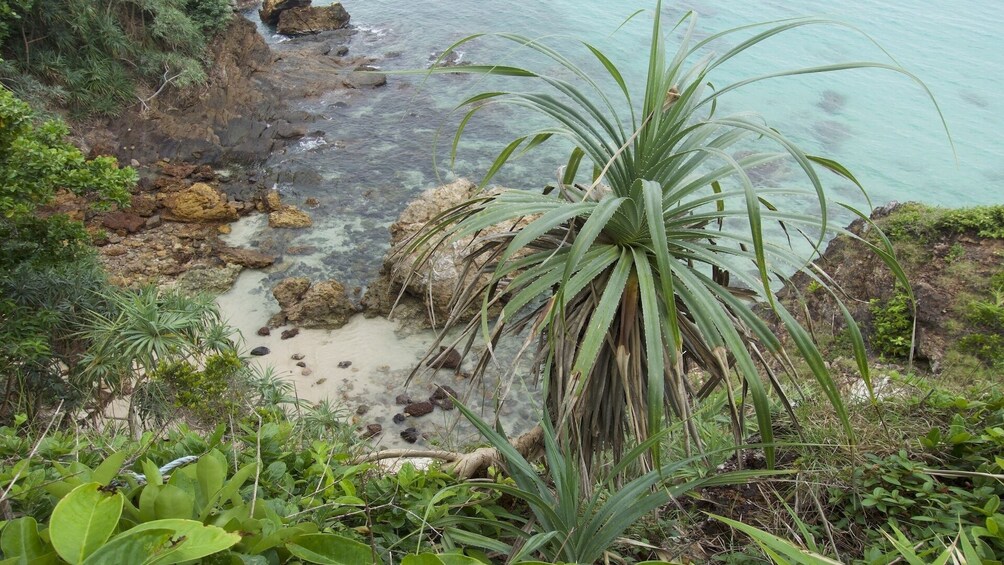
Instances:
[[[298,397],[310,402],[327,398],[342,407],[360,429],[368,423],[382,425],[384,433],[372,440],[374,447],[458,449],[479,442],[466,421],[457,425],[458,410],[444,411],[437,407],[428,415],[408,417],[402,425],[393,422],[394,414],[404,408],[395,402],[398,394],[407,393],[416,401],[425,400],[437,384],[452,386],[472,408],[484,406],[485,417],[494,413],[491,394],[486,395],[480,385],[472,386],[452,370],[424,369],[406,387],[409,375],[433,342],[432,332],[410,331],[406,335],[399,331],[397,322],[357,315],[336,330],[300,329],[295,337],[283,340],[280,334],[287,327],[282,327],[273,329],[269,336],[258,336],[258,328],[266,325],[268,318],[279,311],[270,289],[263,286],[264,279],[265,274],[260,271],[245,271],[217,303],[225,319],[243,334],[244,351],[258,346],[270,349],[268,355],[254,357],[253,362],[271,365],[279,375],[292,381]],[[304,356],[302,361],[309,370],[296,365],[297,361],[292,358],[294,353]],[[338,363],[344,361],[351,364],[339,368]],[[465,367],[471,364],[473,359],[465,361]],[[500,367],[500,372],[507,368]],[[514,389],[522,392],[514,392],[501,413],[506,429],[518,433],[534,423],[535,410],[530,406],[532,398],[525,388],[517,383]],[[359,406],[367,409],[355,415]],[[425,436],[414,446],[400,437],[409,427]]]

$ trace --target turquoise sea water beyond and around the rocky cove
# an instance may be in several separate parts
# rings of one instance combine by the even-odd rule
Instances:
[[[316,4],[328,2],[318,1]],[[638,80],[647,65],[653,2],[630,0],[344,0],[358,29],[353,55],[373,55],[386,69],[422,68],[430,56],[457,39],[480,31],[515,31],[548,41],[579,61],[588,53],[576,43],[587,39],[614,60],[625,77]],[[918,200],[943,206],[1004,201],[1004,3],[952,0],[803,0],[667,2],[668,21],[696,11],[698,36],[747,23],[821,15],[849,27],[803,28],[770,39],[731,61],[716,80],[725,84],[786,68],[847,60],[889,61],[870,42],[920,77],[934,93],[948,122],[944,126],[924,89],[910,78],[882,70],[855,70],[783,78],[752,85],[725,99],[726,109],[752,110],[812,153],[832,157],[850,169],[872,203]],[[253,15],[250,17],[254,17]],[[616,30],[616,31],[615,31]],[[263,29],[266,35],[270,32]],[[717,50],[744,38],[715,44]],[[276,40],[272,37],[272,40]],[[673,36],[671,36],[671,44]],[[464,60],[517,63],[499,42],[465,45]],[[278,188],[296,202],[320,201],[315,228],[279,242],[310,245],[293,268],[313,278],[335,276],[362,285],[380,268],[387,247],[386,227],[418,192],[453,175],[480,178],[494,155],[523,132],[523,117],[491,110],[469,126],[454,171],[443,163],[448,133],[440,138],[440,166],[433,165],[438,129],[451,123],[450,109],[486,84],[476,78],[392,75],[371,91],[337,91],[308,100],[324,116],[320,139],[304,139],[268,166],[282,171]],[[456,116],[453,122],[456,121]],[[447,130],[448,127],[447,127]],[[497,180],[513,187],[539,188],[553,178],[561,152],[542,153],[515,163]],[[863,202],[839,183],[834,196]],[[275,242],[273,242],[275,245]]]

